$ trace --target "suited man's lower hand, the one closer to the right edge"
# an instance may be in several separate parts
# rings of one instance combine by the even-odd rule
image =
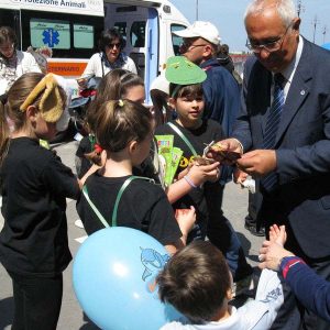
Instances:
[[[250,175],[264,176],[276,169],[276,153],[274,150],[254,150],[243,154],[237,165]]]

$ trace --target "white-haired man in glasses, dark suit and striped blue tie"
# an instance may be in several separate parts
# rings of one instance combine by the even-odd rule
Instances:
[[[249,6],[246,45],[255,56],[245,66],[234,139],[222,143],[260,178],[258,220],[285,224],[286,248],[329,280],[330,53],[301,37],[299,24],[293,0]],[[299,329],[294,300],[286,302],[272,329]],[[300,316],[304,329],[330,329],[308,311]]]

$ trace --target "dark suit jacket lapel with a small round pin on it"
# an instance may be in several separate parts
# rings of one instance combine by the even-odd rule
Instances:
[[[310,72],[310,46],[306,40],[304,40],[302,54],[299,64],[296,68],[286,101],[283,108],[278,131],[276,134],[275,147],[280,141],[286,129],[293,121],[295,114],[300,109],[304,100],[309,95],[311,84],[311,72]]]

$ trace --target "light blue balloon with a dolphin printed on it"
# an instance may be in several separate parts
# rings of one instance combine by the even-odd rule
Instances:
[[[156,330],[183,319],[157,296],[155,277],[168,258],[165,248],[142,231],[116,227],[95,232],[74,260],[81,308],[105,330]]]

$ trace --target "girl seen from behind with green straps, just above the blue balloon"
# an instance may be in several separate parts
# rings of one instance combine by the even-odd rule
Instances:
[[[178,224],[162,187],[150,178],[132,175],[133,166],[150,153],[152,113],[129,100],[108,101],[99,109],[95,127],[107,161],[101,174],[87,179],[77,204],[87,233],[109,226],[130,227],[151,234],[174,253],[185,244],[195,210],[180,218]]]

